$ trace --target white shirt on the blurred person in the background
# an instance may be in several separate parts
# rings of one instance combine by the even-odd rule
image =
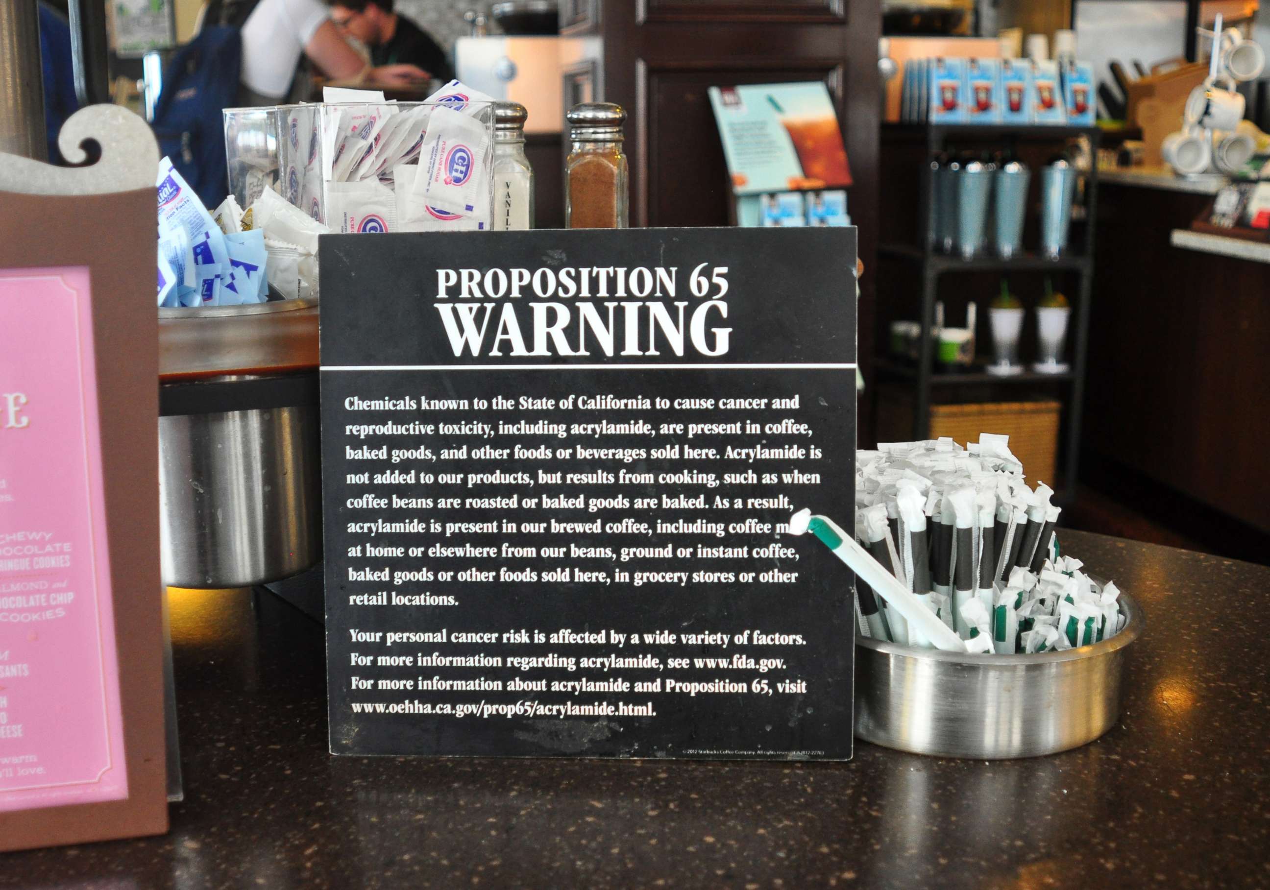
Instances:
[[[260,0],[243,23],[243,83],[283,99],[309,41],[330,18],[321,0]]]

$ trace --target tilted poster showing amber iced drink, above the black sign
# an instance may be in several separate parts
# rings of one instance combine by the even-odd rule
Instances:
[[[710,104],[737,194],[851,185],[824,84],[711,86]]]

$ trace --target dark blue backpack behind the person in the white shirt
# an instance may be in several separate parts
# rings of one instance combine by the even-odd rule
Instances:
[[[198,193],[208,209],[229,194],[225,122],[237,105],[243,39],[232,25],[204,25],[168,62],[155,104],[159,151]]]

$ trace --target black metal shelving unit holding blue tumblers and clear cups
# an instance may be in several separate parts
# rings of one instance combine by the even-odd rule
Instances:
[[[930,161],[936,154],[945,151],[951,143],[961,149],[1002,149],[1012,154],[1020,154],[1025,143],[1034,147],[1045,145],[1064,145],[1068,140],[1086,137],[1090,141],[1091,159],[1095,161],[1087,171],[1082,171],[1085,183],[1083,197],[1078,206],[1073,207],[1073,230],[1068,241],[1068,253],[1057,259],[1046,259],[1035,251],[1025,251],[1011,259],[1002,259],[992,254],[983,254],[972,259],[945,254],[937,250],[927,227],[930,225],[931,207],[931,176],[926,173]],[[989,390],[994,394],[996,401],[1013,400],[1008,396],[1011,391],[1017,392],[1020,387],[1027,386],[1054,386],[1063,387],[1064,392],[1059,401],[1064,405],[1066,435],[1062,455],[1062,489],[1058,500],[1069,501],[1076,490],[1077,477],[1077,452],[1081,441],[1081,404],[1085,395],[1085,359],[1088,343],[1090,300],[1093,281],[1093,226],[1095,209],[1097,207],[1097,149],[1100,131],[1096,127],[1055,127],[1055,126],[980,126],[980,124],[883,124],[881,150],[903,150],[914,146],[925,149],[922,157],[925,164],[919,175],[919,198],[917,211],[917,244],[903,241],[886,241],[879,245],[878,254],[883,260],[906,264],[917,270],[921,279],[921,302],[918,319],[922,325],[918,347],[918,361],[912,364],[895,361],[893,358],[880,358],[888,355],[886,338],[888,322],[885,312],[879,312],[879,361],[876,363],[879,380],[908,381],[916,387],[913,433],[916,438],[926,438],[930,434],[930,409],[932,392],[940,395],[954,392],[956,387],[975,387],[977,391]],[[1033,183],[1029,189],[1030,196],[1038,189],[1039,169],[1033,166]],[[883,185],[885,188],[885,183]],[[1083,235],[1076,237],[1074,223],[1083,225]],[[1067,273],[1078,279],[1076,298],[1072,301],[1072,315],[1068,325],[1067,340],[1071,354],[1071,371],[1060,375],[1040,375],[1024,372],[1012,377],[997,377],[982,371],[975,372],[940,372],[935,367],[933,339],[931,331],[935,326],[935,303],[939,298],[940,281],[946,276],[966,273],[999,273],[999,274],[1027,274],[1036,273]],[[984,295],[991,297],[992,295]]]

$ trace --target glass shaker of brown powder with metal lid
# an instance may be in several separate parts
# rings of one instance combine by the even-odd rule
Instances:
[[[569,109],[566,117],[570,149],[564,161],[565,227],[626,229],[626,112],[607,102],[584,102]]]

